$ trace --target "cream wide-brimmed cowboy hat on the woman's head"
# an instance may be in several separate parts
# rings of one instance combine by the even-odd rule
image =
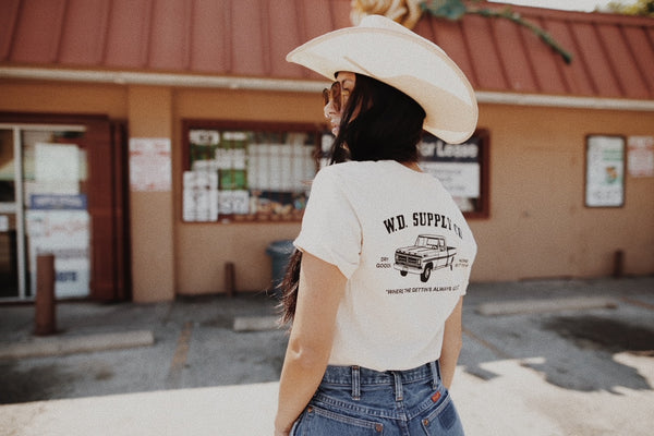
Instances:
[[[351,71],[400,89],[427,113],[424,130],[447,143],[464,142],[476,126],[474,90],[459,66],[440,47],[385,16],[368,15],[356,27],[318,36],[287,61],[331,81]]]

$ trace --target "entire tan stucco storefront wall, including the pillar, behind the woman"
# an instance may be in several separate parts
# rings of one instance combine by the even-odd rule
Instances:
[[[225,263],[239,291],[270,282],[270,241],[298,223],[181,221],[181,120],[322,122],[319,96],[0,81],[0,110],[106,113],[126,119],[132,137],[171,136],[172,191],[131,193],[136,301],[225,290]],[[626,174],[625,207],[584,207],[588,134],[654,135],[654,112],[482,105],[489,131],[491,217],[473,219],[480,251],[474,281],[598,277],[625,252],[625,272],[654,274],[654,178]]]

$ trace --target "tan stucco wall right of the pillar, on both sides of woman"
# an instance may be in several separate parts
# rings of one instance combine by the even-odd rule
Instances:
[[[179,90],[175,119],[322,121],[315,96],[242,96]],[[473,280],[607,276],[617,250],[625,252],[626,274],[654,272],[654,178],[627,173],[622,208],[584,207],[586,135],[654,135],[654,113],[482,105],[479,126],[491,132],[491,217],[470,221],[480,245]],[[179,217],[180,201],[175,210]],[[298,230],[296,225],[178,219],[177,251],[187,257],[178,258],[179,291],[219,291],[226,262],[235,263],[238,289],[264,289],[270,280],[265,247]]]

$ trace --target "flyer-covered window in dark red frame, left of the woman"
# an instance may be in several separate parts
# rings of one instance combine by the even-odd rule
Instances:
[[[182,131],[184,221],[302,219],[320,126],[184,120]]]

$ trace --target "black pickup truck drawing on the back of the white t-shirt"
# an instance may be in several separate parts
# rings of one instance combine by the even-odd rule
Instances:
[[[421,234],[415,244],[396,250],[393,268],[402,276],[420,274],[420,280],[426,282],[432,270],[447,266],[452,269],[456,254],[457,249],[447,246],[445,237]]]

